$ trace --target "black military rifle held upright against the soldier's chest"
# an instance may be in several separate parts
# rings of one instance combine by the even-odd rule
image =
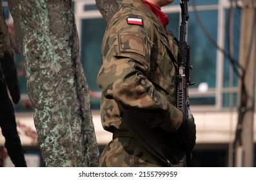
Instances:
[[[190,111],[190,101],[188,96],[188,86],[194,83],[190,82],[190,46],[186,42],[186,21],[188,21],[188,1],[181,0],[181,26],[179,36],[179,53],[178,53],[178,68],[177,75],[177,108],[180,109],[187,118],[192,118]],[[188,158],[186,152],[180,161],[186,167]],[[188,154],[190,156],[190,154]]]

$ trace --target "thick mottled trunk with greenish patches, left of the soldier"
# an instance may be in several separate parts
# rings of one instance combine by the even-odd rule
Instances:
[[[46,167],[97,167],[72,0],[8,0]]]

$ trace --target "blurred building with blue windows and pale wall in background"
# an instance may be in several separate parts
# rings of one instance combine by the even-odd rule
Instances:
[[[8,4],[6,0],[2,0],[2,3],[6,23],[11,26],[12,17]],[[189,2],[188,44],[191,46],[193,66],[191,78],[192,82],[195,82],[195,85],[190,87],[190,104],[197,124],[197,145],[191,162],[193,167],[232,167],[234,163],[233,142],[237,133],[240,108],[241,76],[237,74],[239,71],[237,62],[241,52],[241,4],[242,1],[228,0],[190,0]],[[167,13],[170,20],[167,28],[179,37],[181,21],[179,1],[174,1],[162,10]],[[81,62],[90,89],[95,132],[99,148],[103,150],[104,145],[111,140],[112,134],[101,127],[99,116],[101,92],[96,84],[96,76],[102,62],[101,41],[106,22],[97,10],[94,0],[74,0],[74,12],[80,39]],[[251,51],[255,50],[254,46]],[[17,129],[26,152],[28,166],[42,166],[32,105],[26,91],[25,69],[19,51],[15,53],[15,60],[22,93],[21,101],[15,105]],[[255,76],[251,76],[251,79],[254,81],[251,85],[255,89]],[[255,98],[253,101],[255,104]],[[254,126],[251,128],[255,129]],[[0,134],[0,166],[1,163],[2,166],[12,166],[3,148],[4,142]],[[253,159],[253,166],[256,166],[256,159]]]

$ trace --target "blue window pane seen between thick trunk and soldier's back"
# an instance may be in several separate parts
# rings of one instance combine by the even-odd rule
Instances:
[[[81,35],[81,62],[90,89],[91,109],[99,109],[101,95],[96,77],[102,64],[101,42],[106,21],[104,19],[83,19]]]

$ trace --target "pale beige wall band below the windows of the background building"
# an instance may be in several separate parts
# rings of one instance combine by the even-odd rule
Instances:
[[[104,131],[101,126],[99,111],[92,111],[92,114],[97,142],[99,145],[105,145],[112,139],[112,134]],[[197,144],[219,144],[233,141],[237,127],[236,112],[193,113],[193,116],[197,125]],[[37,145],[33,114],[17,113],[16,122],[22,145]],[[254,141],[256,142],[256,125],[254,125]],[[5,138],[0,133],[0,146],[3,146],[4,143]]]

